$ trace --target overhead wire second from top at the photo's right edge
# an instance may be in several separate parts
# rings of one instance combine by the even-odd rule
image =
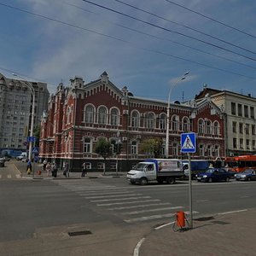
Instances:
[[[239,46],[239,45],[232,44],[232,43],[227,42],[227,41],[225,41],[225,40],[223,40],[223,39],[221,39],[221,38],[217,38],[217,37],[214,37],[214,36],[212,36],[212,35],[210,35],[210,34],[207,34],[206,32],[201,32],[200,30],[197,30],[197,29],[195,29],[195,28],[193,28],[193,27],[186,26],[186,25],[183,25],[183,24],[181,24],[181,23],[179,23],[179,22],[166,19],[166,18],[164,18],[164,17],[162,17],[162,16],[160,16],[160,15],[155,15],[155,14],[153,14],[153,13],[148,12],[147,10],[140,9],[140,8],[134,6],[134,5],[131,5],[131,4],[129,4],[129,3],[124,3],[123,1],[120,1],[120,0],[113,0],[113,1],[116,1],[116,2],[118,2],[118,3],[125,4],[126,6],[129,6],[129,7],[133,8],[133,9],[137,9],[137,10],[139,10],[139,11],[145,13],[145,14],[152,15],[152,16],[154,16],[154,17],[157,17],[157,18],[159,18],[160,20],[166,20],[166,21],[171,22],[171,23],[173,23],[173,24],[175,24],[175,25],[183,26],[183,27],[185,27],[185,28],[187,28],[187,29],[189,29],[189,30],[192,30],[192,31],[194,31],[194,32],[201,33],[202,35],[207,36],[207,37],[209,37],[209,38],[216,39],[216,40],[218,40],[218,41],[220,41],[220,42],[222,42],[222,43],[232,45],[232,46],[234,46],[234,47],[236,47],[236,48],[238,48],[238,49],[243,49],[243,50],[245,50],[245,51],[247,51],[247,52],[249,52],[249,53],[252,53],[252,54],[256,55],[256,52],[254,52],[253,50],[245,49],[245,48],[243,48],[243,47],[241,47],[241,46]]]

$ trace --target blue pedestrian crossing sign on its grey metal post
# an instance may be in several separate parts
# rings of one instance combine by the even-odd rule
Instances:
[[[196,152],[195,132],[181,134],[181,152],[189,156],[189,228],[193,229],[193,207],[192,207],[192,177],[191,177],[191,156],[190,153]]]

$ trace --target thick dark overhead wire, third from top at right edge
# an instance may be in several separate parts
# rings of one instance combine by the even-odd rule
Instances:
[[[184,34],[184,33],[182,33],[182,32],[173,31],[173,30],[168,29],[168,28],[166,28],[166,27],[155,25],[155,24],[153,24],[153,23],[151,23],[151,22],[138,19],[138,18],[133,17],[133,16],[131,16],[131,15],[126,15],[126,14],[124,14],[124,13],[121,13],[121,12],[119,12],[119,11],[117,11],[117,10],[108,8],[108,7],[103,6],[103,5],[101,5],[101,4],[92,3],[92,2],[90,2],[90,1],[88,1],[88,0],[82,0],[82,1],[84,1],[85,3],[90,3],[90,4],[92,4],[92,5],[95,5],[95,6],[99,7],[99,8],[102,8],[102,9],[107,9],[108,11],[111,11],[111,12],[113,12],[113,13],[116,13],[116,14],[123,15],[123,16],[128,17],[128,18],[131,18],[132,20],[140,21],[140,22],[142,22],[142,23],[144,23],[144,24],[147,24],[147,25],[149,25],[149,26],[157,27],[157,28],[159,28],[159,29],[161,29],[161,30],[164,30],[164,31],[166,31],[166,32],[176,33],[176,34],[178,34],[178,35],[180,35],[180,36],[183,36],[183,37],[185,37],[185,38],[190,38],[190,39],[199,41],[199,42],[201,42],[201,43],[203,43],[203,44],[208,44],[208,45],[211,45],[211,46],[213,46],[213,47],[215,47],[215,48],[223,49],[223,50],[228,51],[228,52],[230,52],[230,53],[233,53],[233,54],[235,54],[235,55],[239,55],[239,56],[244,57],[244,58],[246,58],[246,59],[249,59],[249,60],[251,60],[251,61],[256,61],[256,59],[254,59],[253,57],[249,57],[249,56],[247,56],[247,55],[239,54],[239,53],[237,53],[237,52],[235,52],[235,51],[233,51],[233,50],[231,50],[231,49],[226,49],[226,48],[221,47],[221,46],[218,46],[218,45],[216,45],[216,44],[209,43],[209,42],[207,42],[207,41],[205,41],[205,40],[201,40],[201,39],[199,39],[199,38],[191,37],[191,36],[186,35],[186,34]]]

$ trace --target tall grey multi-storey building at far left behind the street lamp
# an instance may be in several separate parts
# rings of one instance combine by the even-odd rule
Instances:
[[[26,150],[32,117],[32,92],[26,81],[8,79],[0,73],[0,148]],[[47,84],[29,82],[35,90],[34,126],[48,108]]]

